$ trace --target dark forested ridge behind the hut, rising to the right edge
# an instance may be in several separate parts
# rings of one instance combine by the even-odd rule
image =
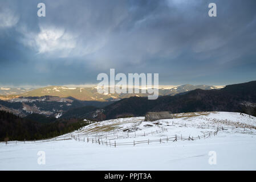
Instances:
[[[238,111],[256,114],[256,81],[227,85],[222,89],[202,90],[162,96],[157,100],[146,97],[130,97],[104,107],[105,119],[142,116],[148,111]]]

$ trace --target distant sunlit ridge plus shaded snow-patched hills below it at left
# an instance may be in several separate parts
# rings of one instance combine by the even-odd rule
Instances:
[[[159,89],[160,96],[180,94],[193,89],[217,89],[208,85],[181,85],[172,89]],[[9,111],[20,117],[29,114],[43,114],[47,117],[88,117],[86,106],[100,109],[123,98],[147,97],[147,94],[99,94],[96,87],[70,88],[65,86],[47,86],[38,89],[1,88],[5,91],[0,96],[0,110]],[[19,94],[11,94],[13,92]],[[141,91],[141,90],[140,90]],[[3,92],[1,92],[3,93]],[[76,108],[80,108],[76,110]],[[90,111],[92,111],[90,109]],[[92,114],[97,115],[97,114]]]

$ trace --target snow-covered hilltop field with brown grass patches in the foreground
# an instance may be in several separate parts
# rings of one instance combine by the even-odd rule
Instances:
[[[255,117],[227,112],[175,116],[156,122],[145,122],[144,117],[112,119],[92,123],[56,140],[0,143],[0,169],[256,169]],[[46,164],[38,164],[38,151],[45,152]],[[214,159],[216,163],[210,164],[209,160]]]

